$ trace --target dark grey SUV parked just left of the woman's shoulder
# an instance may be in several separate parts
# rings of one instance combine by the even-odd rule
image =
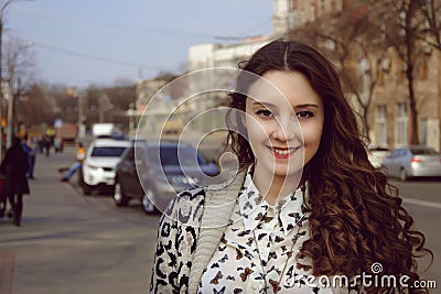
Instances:
[[[178,142],[137,141],[117,165],[114,202],[118,207],[139,199],[147,214],[162,210],[178,193],[209,184],[218,167],[193,146]]]

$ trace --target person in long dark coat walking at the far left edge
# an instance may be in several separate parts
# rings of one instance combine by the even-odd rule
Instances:
[[[20,226],[23,213],[23,195],[29,194],[26,172],[29,171],[28,155],[24,153],[19,138],[12,140],[12,146],[7,150],[0,170],[6,174],[6,190],[12,208],[15,226]]]

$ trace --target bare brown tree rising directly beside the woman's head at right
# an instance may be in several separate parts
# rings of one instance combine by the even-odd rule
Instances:
[[[321,17],[290,32],[290,36],[322,50],[340,69],[346,91],[359,112],[363,133],[369,137],[369,108],[377,86],[380,63],[388,45],[379,42],[378,25],[373,25],[368,4],[354,4]]]

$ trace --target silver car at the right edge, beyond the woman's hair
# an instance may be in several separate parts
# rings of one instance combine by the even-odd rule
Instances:
[[[401,181],[417,176],[441,176],[441,154],[421,145],[400,148],[385,157],[381,170]]]

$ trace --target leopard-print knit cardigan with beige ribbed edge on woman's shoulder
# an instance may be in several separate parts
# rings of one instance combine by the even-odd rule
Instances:
[[[205,266],[228,225],[246,172],[228,185],[183,192],[160,220],[152,293],[197,293]]]

